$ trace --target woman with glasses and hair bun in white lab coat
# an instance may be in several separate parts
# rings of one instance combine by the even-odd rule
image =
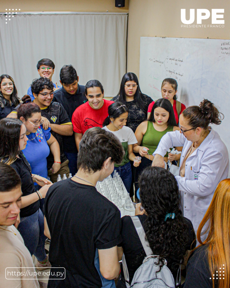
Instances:
[[[167,150],[183,146],[180,173],[175,178],[181,192],[182,212],[192,221],[195,232],[211,203],[217,184],[229,173],[227,147],[219,134],[208,127],[209,124],[220,125],[220,114],[206,99],[199,107],[188,107],[180,116],[180,131],[164,135],[153,154],[152,166],[164,167],[163,157]]]

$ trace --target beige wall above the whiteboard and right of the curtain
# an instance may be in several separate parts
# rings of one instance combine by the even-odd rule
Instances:
[[[230,5],[228,0],[129,0],[127,72],[139,77],[140,37],[185,37],[230,39]],[[225,9],[224,28],[181,28],[181,9]],[[188,12],[188,13],[187,13]],[[202,24],[211,24],[211,15]]]

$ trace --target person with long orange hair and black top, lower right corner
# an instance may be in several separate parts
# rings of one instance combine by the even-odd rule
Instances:
[[[222,180],[197,230],[196,247],[187,263],[184,288],[230,287],[230,179]],[[207,228],[207,238],[201,235]]]

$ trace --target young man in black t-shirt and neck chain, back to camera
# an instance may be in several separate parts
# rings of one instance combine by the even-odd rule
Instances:
[[[115,288],[120,211],[95,186],[113,172],[114,163],[122,162],[123,153],[111,132],[90,128],[80,142],[77,174],[48,190],[43,211],[44,233],[51,239],[49,260],[66,269],[65,279],[49,280],[48,287]]]

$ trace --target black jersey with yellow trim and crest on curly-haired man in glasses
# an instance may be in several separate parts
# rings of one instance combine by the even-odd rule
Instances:
[[[17,112],[20,105],[21,104],[19,104],[13,111]],[[51,102],[49,106],[40,109],[41,109],[41,115],[43,117],[46,117],[51,124],[57,124],[57,125],[72,124],[66,113],[66,110],[60,103]],[[61,163],[63,163],[67,160],[63,149],[63,139],[62,139],[63,136],[52,130],[50,132],[57,139],[57,142],[60,146],[60,160]],[[47,159],[47,169],[49,170],[54,164],[54,156],[52,152],[49,153],[49,156],[46,159]]]

